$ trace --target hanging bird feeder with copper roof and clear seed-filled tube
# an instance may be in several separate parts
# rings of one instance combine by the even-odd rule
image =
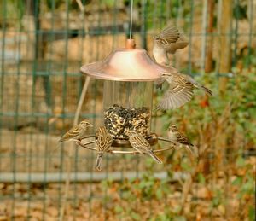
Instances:
[[[82,73],[104,80],[104,125],[113,147],[131,147],[126,130],[137,131],[151,145],[158,142],[150,131],[153,83],[171,68],[153,61],[145,49],[136,49],[134,39],[127,39],[125,49],[113,50],[103,61],[81,67]]]

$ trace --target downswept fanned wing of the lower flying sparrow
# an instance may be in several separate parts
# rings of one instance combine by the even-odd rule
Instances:
[[[183,79],[180,75],[175,75],[169,84],[169,89],[157,106],[157,109],[174,109],[189,102],[193,96],[193,84]]]

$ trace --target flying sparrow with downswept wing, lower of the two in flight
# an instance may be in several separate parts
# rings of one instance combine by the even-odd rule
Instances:
[[[205,86],[197,83],[189,75],[172,71],[170,73],[162,73],[160,79],[156,81],[158,87],[164,82],[169,84],[169,88],[161,99],[156,109],[175,109],[180,108],[186,102],[189,102],[193,96],[194,88],[204,90],[207,95],[212,96],[212,91]]]

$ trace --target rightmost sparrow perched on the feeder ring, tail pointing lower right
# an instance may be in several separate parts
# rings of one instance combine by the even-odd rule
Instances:
[[[182,132],[177,130],[176,125],[169,125],[168,129],[168,138],[177,144],[178,146],[183,144],[185,147],[189,150],[190,153],[194,154],[195,157],[198,157],[198,151],[195,145],[193,145],[191,142],[189,142],[189,139],[183,135]]]

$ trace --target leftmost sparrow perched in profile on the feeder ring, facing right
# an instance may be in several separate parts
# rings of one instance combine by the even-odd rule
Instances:
[[[87,128],[91,126],[92,125],[89,122],[83,120],[79,123],[79,125],[75,125],[69,131],[67,131],[67,133],[61,137],[59,142],[65,142],[69,140],[81,141],[81,139],[86,135]]]

